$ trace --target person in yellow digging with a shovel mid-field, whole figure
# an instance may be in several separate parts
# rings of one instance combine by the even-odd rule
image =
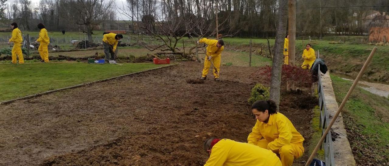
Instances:
[[[207,74],[209,72],[209,67],[211,63],[214,66],[214,76],[215,81],[220,81],[220,61],[221,61],[221,52],[224,50],[224,41],[223,40],[212,40],[207,38],[202,38],[197,43],[205,43],[208,45],[207,52],[205,53],[205,61],[202,77],[200,80],[207,79]]]

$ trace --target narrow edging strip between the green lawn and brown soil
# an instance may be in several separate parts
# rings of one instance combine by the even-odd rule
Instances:
[[[133,75],[133,74],[139,74],[139,73],[143,73],[143,72],[146,72],[146,71],[152,71],[152,70],[161,69],[161,68],[164,68],[164,67],[175,66],[175,65],[178,65],[178,64],[179,63],[174,63],[174,64],[170,64],[170,65],[167,65],[167,66],[156,67],[156,68],[147,69],[147,70],[144,70],[144,71],[138,71],[138,72],[135,72],[135,73],[124,74],[124,75],[120,75],[120,76],[116,76],[116,77],[112,77],[112,78],[106,78],[106,79],[103,79],[103,80],[97,80],[97,81],[93,81],[93,82],[82,83],[82,84],[79,84],[79,85],[68,86],[68,87],[59,88],[59,89],[56,89],[56,90],[49,90],[49,91],[46,91],[46,92],[36,93],[36,94],[28,95],[28,96],[25,96],[25,97],[19,97],[19,98],[16,98],[16,99],[5,100],[5,101],[0,102],[0,105],[9,104],[9,103],[12,103],[12,102],[17,101],[17,100],[31,99],[33,97],[38,97],[38,96],[46,95],[46,94],[49,94],[49,93],[58,92],[58,91],[61,91],[61,90],[79,88],[81,86],[90,85],[90,84],[93,84],[93,83],[98,83],[98,82],[103,82],[103,81],[108,81],[108,80],[113,80],[113,79],[116,79],[116,78],[130,76],[130,75]]]

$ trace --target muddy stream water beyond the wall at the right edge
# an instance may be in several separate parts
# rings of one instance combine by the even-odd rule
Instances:
[[[342,78],[343,80],[348,80],[351,82],[353,82],[355,79],[350,76],[339,74],[339,73],[335,73],[334,75]],[[370,80],[360,80],[358,82],[358,86],[360,86],[364,90],[367,90],[379,96],[383,96],[383,97],[389,96],[389,85],[387,83],[370,81]]]

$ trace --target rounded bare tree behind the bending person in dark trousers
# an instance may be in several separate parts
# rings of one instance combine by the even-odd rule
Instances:
[[[114,0],[65,0],[70,5],[66,12],[75,24],[87,29],[88,40],[92,41],[92,31],[109,18]]]

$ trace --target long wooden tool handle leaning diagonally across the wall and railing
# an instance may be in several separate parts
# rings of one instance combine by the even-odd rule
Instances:
[[[355,79],[354,83],[352,84],[349,92],[347,92],[346,97],[344,97],[344,99],[342,101],[342,104],[340,104],[338,111],[336,111],[336,113],[335,113],[334,117],[332,118],[331,122],[328,124],[326,131],[324,131],[324,133],[321,136],[319,142],[317,143],[314,151],[312,152],[311,156],[309,157],[307,163],[305,163],[305,166],[308,166],[312,162],[312,160],[314,159],[314,157],[315,157],[315,155],[317,153],[317,150],[319,150],[321,144],[323,143],[324,139],[326,138],[326,135],[328,134],[329,130],[331,130],[332,125],[335,123],[336,118],[338,118],[340,112],[342,111],[344,105],[346,104],[347,100],[349,99],[349,97],[350,97],[352,91],[354,90],[355,86],[357,86],[359,79],[361,79],[361,77],[362,77],[364,71],[366,70],[366,67],[369,65],[369,63],[371,61],[371,58],[373,57],[375,51],[377,51],[377,47],[374,47],[373,50],[371,51],[369,57],[367,58],[366,62],[363,65],[361,71],[359,71],[359,74],[358,74],[357,78]]]

